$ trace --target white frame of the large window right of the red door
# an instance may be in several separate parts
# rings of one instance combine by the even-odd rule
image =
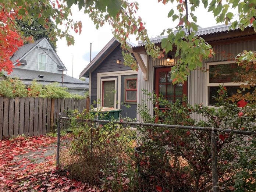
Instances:
[[[206,63],[206,106],[208,107],[215,107],[216,106],[211,106],[209,105],[209,87],[216,87],[216,86],[240,86],[242,84],[246,84],[244,82],[227,82],[227,83],[210,83],[209,78],[210,78],[210,65],[222,65],[222,64],[231,64],[235,63],[235,61],[219,61],[219,62],[211,62],[211,63]]]

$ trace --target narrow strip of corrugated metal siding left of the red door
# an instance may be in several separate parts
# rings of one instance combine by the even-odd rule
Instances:
[[[153,115],[153,104],[148,101],[148,97],[142,94],[141,89],[146,89],[148,92],[152,92],[154,90],[154,68],[153,68],[153,60],[152,57],[149,57],[149,77],[147,81],[143,80],[143,72],[139,68],[138,71],[138,93],[137,93],[137,102],[142,103],[142,100],[147,104],[148,109],[150,110],[150,114]],[[137,114],[137,120],[142,121],[141,116]]]

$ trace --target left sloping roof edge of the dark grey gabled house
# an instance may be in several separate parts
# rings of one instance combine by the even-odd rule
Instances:
[[[137,46],[134,43],[131,43],[129,41],[126,41],[127,44],[130,47],[134,47]],[[93,58],[93,60],[83,69],[83,71],[80,73],[79,78],[81,77],[88,77],[89,76],[89,71],[90,69],[92,69],[93,67],[95,67],[96,65],[99,65],[102,61],[103,58],[106,58],[107,56],[109,56],[109,54],[111,53],[113,47],[117,47],[120,44],[120,42],[113,37],[108,43],[107,45],[105,45],[103,47],[103,49]]]

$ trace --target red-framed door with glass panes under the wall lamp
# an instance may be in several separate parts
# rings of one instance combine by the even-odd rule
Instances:
[[[171,67],[156,68],[155,70],[155,92],[157,97],[161,94],[164,99],[175,102],[179,99],[182,101],[183,95],[188,95],[188,83],[172,84],[171,80]],[[166,110],[164,106],[157,105],[159,109]]]

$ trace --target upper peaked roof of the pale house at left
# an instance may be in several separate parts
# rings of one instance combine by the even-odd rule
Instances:
[[[13,65],[17,64],[17,62],[16,62],[17,60],[21,61],[27,54],[29,54],[33,49],[35,49],[35,47],[40,47],[41,49],[46,48],[46,47],[40,46],[40,44],[39,44],[43,40],[46,41],[46,43],[50,47],[51,51],[53,51],[54,56],[57,58],[59,64],[56,63],[56,65],[61,65],[62,67],[64,67],[64,71],[67,71],[67,68],[65,67],[65,65],[60,60],[60,57],[57,55],[57,53],[54,51],[53,47],[51,46],[51,44],[49,43],[49,41],[45,37],[41,38],[41,39],[38,39],[33,43],[27,43],[27,44],[19,47],[18,50],[14,53],[14,55],[10,58],[10,60],[13,62]]]

